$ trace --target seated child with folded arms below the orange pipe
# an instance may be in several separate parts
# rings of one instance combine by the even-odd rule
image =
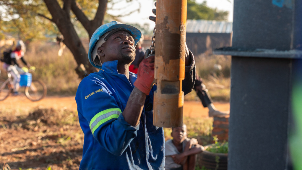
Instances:
[[[172,128],[173,140],[165,142],[165,170],[194,170],[196,154],[204,151],[197,140],[187,138],[187,126]]]

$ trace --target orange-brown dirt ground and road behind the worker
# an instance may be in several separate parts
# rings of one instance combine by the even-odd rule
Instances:
[[[214,104],[221,111],[230,108],[229,103]],[[208,119],[207,108],[185,101],[184,116]],[[74,96],[0,101],[0,169],[9,169],[7,163],[15,170],[77,170],[83,139]]]

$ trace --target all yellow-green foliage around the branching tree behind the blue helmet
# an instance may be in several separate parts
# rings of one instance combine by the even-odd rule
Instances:
[[[73,0],[74,1],[74,0]],[[107,9],[118,10],[115,5],[120,2],[133,2],[135,0],[108,0]],[[58,0],[63,8],[64,0]],[[98,10],[98,0],[76,0],[77,6],[89,21],[95,18]],[[127,14],[139,11],[133,9]],[[18,35],[22,40],[45,39],[60,34],[56,24],[51,22],[52,18],[43,0],[0,0],[0,39],[5,33]],[[88,37],[88,33],[79,22],[73,11],[70,11],[70,20],[80,37]],[[104,23],[117,19],[117,16],[105,14]]]

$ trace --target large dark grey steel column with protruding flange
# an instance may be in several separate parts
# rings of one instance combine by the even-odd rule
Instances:
[[[230,170],[291,169],[293,82],[301,79],[302,1],[234,0]],[[300,64],[297,64],[300,63]]]

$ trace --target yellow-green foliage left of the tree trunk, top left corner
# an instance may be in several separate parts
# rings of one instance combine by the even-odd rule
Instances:
[[[18,35],[19,38],[31,41],[44,39],[45,35],[56,35],[55,24],[38,16],[47,15],[43,1],[0,0],[0,36],[4,33]]]

